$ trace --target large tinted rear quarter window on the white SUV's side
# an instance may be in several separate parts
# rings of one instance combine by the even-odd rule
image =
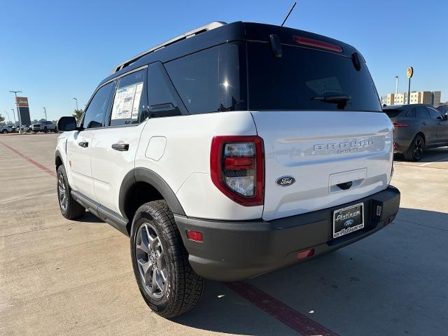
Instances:
[[[169,78],[190,114],[219,109],[219,47],[165,63]]]

